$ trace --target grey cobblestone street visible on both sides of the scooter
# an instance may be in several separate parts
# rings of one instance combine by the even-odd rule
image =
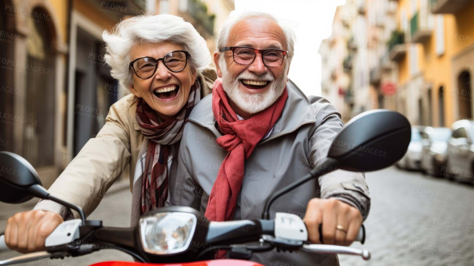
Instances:
[[[369,261],[339,255],[341,266],[372,265],[472,265],[474,261],[474,187],[407,172],[395,167],[366,174],[372,197],[365,221],[365,245],[353,244],[372,253]],[[101,219],[107,226],[128,226],[130,216],[126,182],[114,184],[89,219]],[[35,200],[36,202],[36,200]],[[1,205],[0,219],[16,211],[31,209],[31,202]],[[3,223],[2,223],[3,224]],[[0,254],[0,259],[16,256]],[[104,250],[80,258],[39,260],[25,266],[88,266],[107,260],[132,260],[116,250]]]

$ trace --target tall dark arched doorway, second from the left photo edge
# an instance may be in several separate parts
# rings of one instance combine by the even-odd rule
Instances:
[[[27,81],[23,156],[34,167],[54,165],[55,151],[55,31],[45,9],[35,8],[37,21],[30,21],[27,44]]]

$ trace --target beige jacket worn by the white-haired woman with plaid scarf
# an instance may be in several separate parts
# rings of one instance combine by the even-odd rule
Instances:
[[[212,85],[217,78],[216,69],[209,67],[200,76],[201,97],[204,97],[212,92]],[[105,125],[95,138],[91,138],[82,147],[76,157],[69,160],[71,162],[51,185],[49,193],[82,207],[88,216],[104,196],[113,198],[106,191],[127,165],[132,192],[138,152],[144,139],[135,117],[135,99],[133,94],[128,94],[110,107]],[[131,198],[125,200],[131,203]],[[71,212],[49,200],[38,202],[33,210],[54,211],[63,216],[63,219],[73,219],[73,216],[79,218],[78,212]]]

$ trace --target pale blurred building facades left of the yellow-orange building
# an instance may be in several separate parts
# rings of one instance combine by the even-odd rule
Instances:
[[[381,88],[390,85],[391,68],[380,62],[395,28],[397,4],[389,0],[347,0],[337,8],[332,35],[322,41],[322,96],[346,122],[374,108],[395,109],[396,101]]]

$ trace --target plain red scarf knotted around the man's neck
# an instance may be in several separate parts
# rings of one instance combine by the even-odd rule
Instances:
[[[252,154],[257,143],[280,118],[287,98],[288,93],[285,87],[280,98],[270,107],[249,119],[239,120],[236,112],[229,105],[220,79],[214,83],[212,111],[220,132],[224,134],[216,139],[216,143],[227,150],[228,154],[219,168],[217,179],[210,192],[205,212],[205,216],[210,221],[232,220],[237,195],[244,179],[244,162]]]

